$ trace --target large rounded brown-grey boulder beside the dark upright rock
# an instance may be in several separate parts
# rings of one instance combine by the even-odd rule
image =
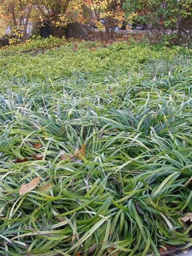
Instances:
[[[89,29],[87,26],[79,23],[69,23],[66,29],[66,38],[87,38],[89,35]]]

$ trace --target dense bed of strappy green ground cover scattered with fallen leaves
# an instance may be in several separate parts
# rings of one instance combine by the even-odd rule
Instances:
[[[190,247],[192,51],[51,40],[0,50],[0,255]]]

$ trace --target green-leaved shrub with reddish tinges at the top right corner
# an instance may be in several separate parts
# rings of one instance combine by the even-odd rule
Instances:
[[[125,12],[136,12],[151,42],[186,44],[192,34],[192,0],[125,0]]]

